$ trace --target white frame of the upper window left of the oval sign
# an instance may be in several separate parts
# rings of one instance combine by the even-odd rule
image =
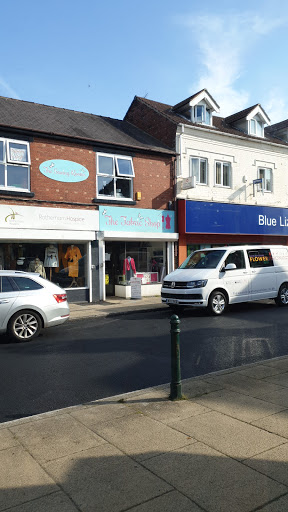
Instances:
[[[17,139],[6,139],[4,137],[0,137],[0,143],[3,143],[3,160],[0,160],[0,165],[4,166],[4,184],[0,184],[0,190],[7,190],[10,192],[30,192],[31,184],[30,184],[30,167],[31,167],[31,159],[30,159],[30,144],[27,141],[17,140]],[[26,146],[27,149],[27,161],[19,161],[12,160],[10,158],[10,143],[22,144]],[[27,177],[27,188],[25,187],[17,187],[13,185],[8,185],[8,167],[22,167],[25,170]]]

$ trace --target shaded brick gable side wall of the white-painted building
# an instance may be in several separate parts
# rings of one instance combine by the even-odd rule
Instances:
[[[125,116],[125,121],[152,135],[166,146],[175,149],[177,125],[149,105],[135,99]]]

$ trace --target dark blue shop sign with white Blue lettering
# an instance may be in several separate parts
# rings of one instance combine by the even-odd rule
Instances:
[[[288,235],[288,208],[186,201],[185,214],[186,233]]]

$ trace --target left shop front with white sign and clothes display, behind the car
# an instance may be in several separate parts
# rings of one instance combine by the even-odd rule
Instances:
[[[98,227],[96,211],[1,205],[0,269],[37,272],[70,302],[99,300]]]

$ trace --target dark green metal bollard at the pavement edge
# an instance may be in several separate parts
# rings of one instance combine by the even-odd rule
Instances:
[[[170,384],[170,400],[181,400],[181,370],[180,370],[180,320],[177,315],[172,315],[171,320],[171,384]]]

